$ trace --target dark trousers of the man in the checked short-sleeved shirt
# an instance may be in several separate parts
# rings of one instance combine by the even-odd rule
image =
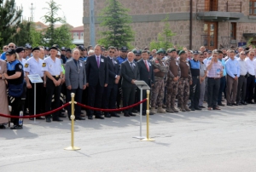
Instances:
[[[218,100],[218,89],[220,85],[219,78],[208,77],[207,78],[207,103],[208,107],[215,108]]]

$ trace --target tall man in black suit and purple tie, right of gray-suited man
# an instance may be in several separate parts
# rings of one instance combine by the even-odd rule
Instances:
[[[86,78],[88,87],[88,105],[101,108],[104,87],[108,86],[108,61],[102,56],[102,47],[95,46],[95,54],[86,60]],[[92,119],[93,111],[88,111],[88,119]],[[96,118],[104,119],[101,112],[96,112]]]

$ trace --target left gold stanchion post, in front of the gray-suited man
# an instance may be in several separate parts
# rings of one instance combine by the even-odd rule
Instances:
[[[74,104],[76,104],[77,102],[74,101],[74,93],[71,94],[71,146],[66,147],[65,150],[67,151],[76,151],[76,150],[80,150],[79,147],[73,146],[73,125],[74,125]]]

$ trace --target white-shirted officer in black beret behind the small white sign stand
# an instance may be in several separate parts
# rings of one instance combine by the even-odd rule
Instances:
[[[40,49],[38,47],[32,49],[32,57],[26,60],[25,66],[24,66],[24,71],[26,72],[26,88],[27,92],[29,95],[29,114],[33,115],[34,114],[34,83],[31,83],[27,75],[32,75],[32,74],[38,74],[40,77],[42,77],[44,81],[44,72],[42,71],[42,66],[43,66],[43,60],[39,58],[40,54]],[[42,101],[42,89],[44,87],[44,83],[36,83],[37,84],[37,92],[36,92],[36,114],[41,113],[42,106],[45,106]],[[33,119],[33,118],[31,118]],[[43,117],[38,117],[37,119],[44,119]]]

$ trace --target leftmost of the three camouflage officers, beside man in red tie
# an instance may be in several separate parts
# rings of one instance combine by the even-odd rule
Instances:
[[[168,66],[162,61],[165,56],[165,51],[159,49],[156,52],[156,58],[152,60],[152,66],[154,70],[154,86],[151,92],[151,113],[156,113],[155,104],[158,102],[158,113],[165,113],[166,111],[162,108],[164,89],[165,89],[165,75],[168,72]]]

